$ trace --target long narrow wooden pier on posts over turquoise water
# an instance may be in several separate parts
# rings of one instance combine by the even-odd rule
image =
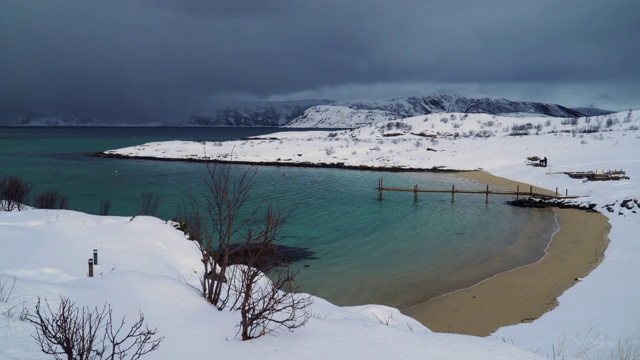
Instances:
[[[565,190],[564,195],[560,195],[558,193],[558,188],[556,187],[555,194],[550,194],[549,192],[537,192],[534,191],[533,186],[529,186],[529,191],[520,191],[520,185],[517,186],[515,191],[511,190],[496,190],[489,189],[489,185],[487,185],[484,190],[460,190],[456,189],[455,185],[451,185],[451,189],[419,189],[418,185],[414,185],[413,188],[395,188],[395,187],[384,187],[382,178],[378,179],[378,187],[374,190],[378,191],[378,200],[382,200],[382,193],[384,191],[399,191],[399,192],[412,192],[413,193],[413,201],[418,201],[418,193],[448,193],[451,194],[451,202],[455,201],[455,194],[484,194],[485,195],[485,203],[489,202],[489,195],[511,195],[515,196],[516,200],[520,196],[526,197],[540,197],[545,199],[575,199],[578,196],[569,196],[569,190]]]

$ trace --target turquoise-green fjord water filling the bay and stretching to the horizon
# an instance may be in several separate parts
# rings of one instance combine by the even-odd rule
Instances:
[[[188,197],[204,191],[205,165],[85,156],[149,141],[223,141],[274,128],[0,128],[0,177],[17,175],[32,194],[57,190],[69,208],[136,214],[140,192],[162,197],[158,217],[172,218]],[[234,166],[241,173],[247,166]],[[285,245],[305,247],[313,259],[294,264],[303,290],[339,305],[407,307],[471,286],[540,259],[556,229],[553,211],[505,204],[507,197],[385,193],[396,187],[482,189],[443,173],[389,173],[258,166],[252,201],[294,212]],[[104,261],[108,261],[105,259]]]

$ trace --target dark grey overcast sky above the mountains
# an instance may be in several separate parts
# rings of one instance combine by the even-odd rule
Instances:
[[[639,34],[638,0],[0,0],[0,122],[434,92],[638,109]]]

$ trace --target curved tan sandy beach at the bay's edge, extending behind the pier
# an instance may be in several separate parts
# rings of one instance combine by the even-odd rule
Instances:
[[[519,184],[482,171],[459,175],[509,189]],[[523,186],[529,187],[520,184],[521,190]],[[533,321],[553,309],[558,296],[602,260],[610,229],[607,218],[600,213],[554,211],[560,230],[543,259],[404,309],[403,313],[433,331],[486,336],[502,326]]]

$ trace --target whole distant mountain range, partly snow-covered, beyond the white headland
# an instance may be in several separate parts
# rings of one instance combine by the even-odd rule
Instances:
[[[357,110],[348,111],[346,109]],[[579,117],[579,111],[555,104],[488,97],[437,94],[382,100],[301,100],[227,104],[191,116],[181,126],[356,127],[373,119],[398,119],[432,113],[535,114]],[[334,118],[339,116],[339,119]],[[342,125],[344,126],[344,125]]]

